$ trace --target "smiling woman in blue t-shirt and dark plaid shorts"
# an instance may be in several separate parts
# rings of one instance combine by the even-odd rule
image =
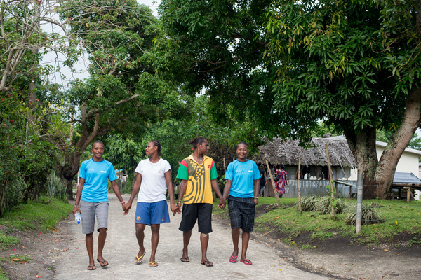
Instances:
[[[239,256],[240,228],[243,230],[240,261],[245,265],[251,265],[251,260],[246,257],[250,232],[254,227],[255,205],[259,203],[259,179],[258,165],[253,160],[247,159],[248,144],[240,142],[236,146],[238,159],[231,162],[225,173],[223,199],[228,197],[229,218],[231,218],[231,235],[234,251],[229,262],[236,262]]]

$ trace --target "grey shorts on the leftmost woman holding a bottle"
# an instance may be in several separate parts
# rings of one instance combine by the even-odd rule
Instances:
[[[95,216],[97,220],[97,230],[108,229],[108,205],[109,202],[86,202],[81,200],[79,207],[82,215],[82,233],[88,235],[93,232]]]

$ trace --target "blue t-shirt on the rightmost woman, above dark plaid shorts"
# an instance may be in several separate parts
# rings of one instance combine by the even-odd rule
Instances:
[[[260,179],[258,165],[253,160],[234,160],[227,167],[225,179],[232,181],[229,195],[233,197],[254,197],[253,181]]]

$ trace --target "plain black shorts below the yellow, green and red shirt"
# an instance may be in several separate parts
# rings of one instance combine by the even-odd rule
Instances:
[[[212,207],[210,203],[183,204],[181,212],[181,223],[178,228],[182,232],[192,230],[194,225],[199,227],[199,232],[212,232]]]

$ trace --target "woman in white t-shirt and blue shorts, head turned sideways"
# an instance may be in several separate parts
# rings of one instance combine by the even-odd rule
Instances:
[[[156,267],[155,261],[156,248],[159,242],[159,227],[161,223],[169,223],[168,206],[166,202],[166,190],[170,197],[170,207],[173,215],[177,212],[174,202],[174,190],[171,180],[171,167],[168,161],[160,158],[161,144],[159,141],[152,140],[146,146],[146,155],[149,158],[141,160],[136,167],[136,181],[130,199],[126,203],[126,213],[131,209],[133,199],[138,194],[138,204],[136,206],[136,238],[139,244],[139,253],[135,257],[137,264],[142,263],[145,257],[145,238],[146,225],[151,226],[152,231],[152,249],[149,258],[149,266]]]

